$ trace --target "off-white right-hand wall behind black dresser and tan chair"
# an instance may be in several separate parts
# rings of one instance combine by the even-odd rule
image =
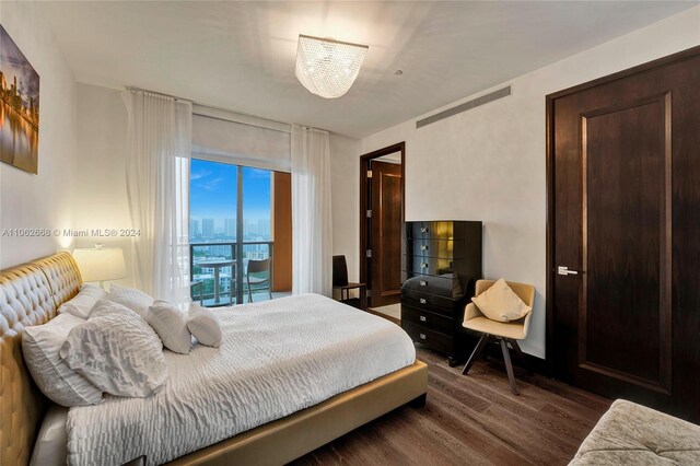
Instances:
[[[360,152],[406,141],[407,220],[483,221],[485,276],[537,288],[532,331],[522,347],[544,358],[545,96],[699,44],[696,7],[503,83],[512,85],[510,97],[421,129],[410,120],[366,137]],[[354,191],[334,196],[347,199],[338,208],[357,212]]]

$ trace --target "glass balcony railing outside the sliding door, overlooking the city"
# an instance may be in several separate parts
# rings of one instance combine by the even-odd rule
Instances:
[[[271,241],[190,243],[190,278],[201,282],[192,287],[192,301],[201,299],[207,306],[221,306],[247,302],[247,265],[249,259],[270,258],[270,287],[275,243]],[[242,273],[237,273],[241,270]],[[255,289],[253,290],[255,292]],[[267,291],[260,296],[268,298]]]

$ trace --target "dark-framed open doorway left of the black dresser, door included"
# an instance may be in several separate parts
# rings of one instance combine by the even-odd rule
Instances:
[[[400,300],[405,154],[399,142],[360,158],[360,281],[370,307]]]

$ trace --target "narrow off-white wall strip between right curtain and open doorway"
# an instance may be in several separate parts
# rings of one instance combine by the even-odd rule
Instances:
[[[359,154],[360,141],[330,135],[332,254],[346,256],[350,281],[360,280]]]

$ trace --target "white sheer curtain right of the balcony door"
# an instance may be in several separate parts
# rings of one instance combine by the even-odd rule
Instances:
[[[292,292],[332,293],[330,138],[292,126]]]

